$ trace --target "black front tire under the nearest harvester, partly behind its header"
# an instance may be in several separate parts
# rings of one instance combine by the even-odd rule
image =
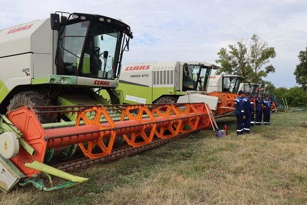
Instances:
[[[50,106],[51,102],[48,99],[35,93],[33,91],[24,91],[21,93],[17,93],[11,100],[10,104],[7,107],[8,111],[23,107],[23,106]],[[45,123],[53,123],[56,121],[56,116],[54,114],[44,114],[44,115],[37,115],[39,121],[42,124]]]

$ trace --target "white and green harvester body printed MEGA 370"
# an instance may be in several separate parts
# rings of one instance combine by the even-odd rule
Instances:
[[[176,103],[187,92],[206,93],[212,69],[203,62],[155,62],[126,65],[118,90],[124,103]]]

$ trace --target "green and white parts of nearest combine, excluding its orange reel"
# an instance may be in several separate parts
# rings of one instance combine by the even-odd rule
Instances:
[[[87,180],[36,161],[28,162],[27,166],[71,182],[47,189],[39,179],[22,173],[16,167],[19,162],[12,163],[9,159],[17,155],[19,145],[29,156],[35,156],[38,150],[24,140],[24,133],[12,124],[7,113],[23,106],[57,105],[65,107],[59,109],[72,110],[75,108],[68,107],[110,104],[94,89],[105,89],[112,104],[121,104],[122,97],[114,89],[118,86],[122,53],[129,50],[132,38],[130,26],[121,20],[83,13],[55,12],[50,18],[0,30],[0,188],[3,191],[18,183],[50,191]],[[68,125],[65,121],[76,120],[76,113],[65,112],[61,122],[50,113],[37,115],[44,128],[48,128],[48,123],[60,127]],[[44,153],[45,162],[55,155],[54,150],[47,150],[46,156]],[[68,159],[75,150],[76,144],[70,145],[58,152],[57,157]]]

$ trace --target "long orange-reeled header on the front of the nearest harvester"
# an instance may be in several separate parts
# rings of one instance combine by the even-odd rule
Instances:
[[[11,180],[5,180],[1,189],[7,192],[17,184],[32,184],[51,191],[85,182],[87,178],[54,167],[74,166],[69,157],[86,164],[113,152],[127,149],[133,152],[151,143],[208,129],[211,124],[206,106],[204,103],[24,106],[9,111],[1,118],[0,166],[5,170],[2,177]],[[67,113],[75,115],[76,121],[50,124],[39,121],[41,115],[59,118]],[[116,138],[122,138],[124,143],[114,145]],[[60,159],[56,153],[64,152],[67,146],[71,147],[69,156]],[[42,175],[47,175],[50,181],[50,175],[55,175],[68,182],[46,188]]]

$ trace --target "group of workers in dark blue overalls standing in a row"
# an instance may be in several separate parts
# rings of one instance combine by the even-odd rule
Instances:
[[[266,96],[253,97],[249,92],[239,91],[235,99],[235,114],[237,118],[237,135],[250,134],[251,126],[261,125],[262,112],[263,124],[270,125],[271,100]],[[256,111],[256,118],[255,118]]]

